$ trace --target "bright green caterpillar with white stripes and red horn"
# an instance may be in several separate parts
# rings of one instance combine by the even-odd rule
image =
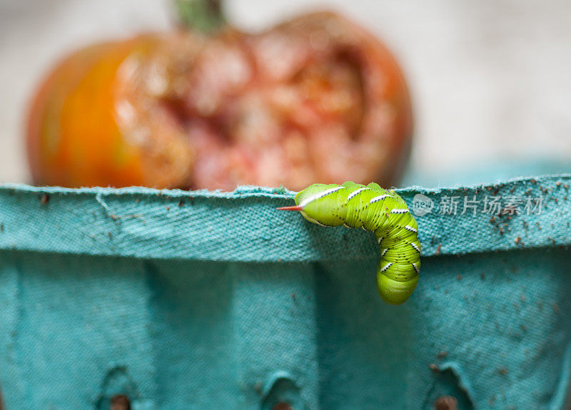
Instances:
[[[420,272],[418,225],[403,198],[378,184],[313,184],[295,195],[295,206],[309,222],[362,227],[375,232],[380,247],[377,289],[389,304],[405,302]]]

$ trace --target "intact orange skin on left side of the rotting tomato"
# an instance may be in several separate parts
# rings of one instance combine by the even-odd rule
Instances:
[[[173,188],[186,183],[191,146],[172,118],[165,122],[164,113],[152,112],[153,98],[139,89],[133,73],[124,73],[128,64],[151,58],[164,41],[144,35],[96,44],[56,65],[28,116],[27,150],[36,185]],[[148,101],[151,107],[141,108]],[[126,109],[130,112],[121,116]],[[136,138],[137,128],[148,132],[161,126],[151,138]]]

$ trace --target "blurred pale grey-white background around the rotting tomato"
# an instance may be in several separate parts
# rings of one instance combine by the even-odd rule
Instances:
[[[571,2],[227,0],[232,24],[261,31],[333,9],[393,51],[415,115],[405,184],[480,182],[567,170],[571,155]],[[0,182],[31,182],[24,113],[46,70],[88,43],[172,26],[168,0],[0,1]],[[502,164],[506,165],[502,171]],[[535,168],[537,169],[537,168]],[[570,168],[571,169],[571,168]],[[477,174],[474,170],[480,170]],[[463,177],[462,175],[470,175]],[[478,175],[478,176],[473,176]]]

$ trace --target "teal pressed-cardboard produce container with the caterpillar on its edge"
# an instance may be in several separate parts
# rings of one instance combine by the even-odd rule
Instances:
[[[400,306],[374,235],[276,211],[287,190],[3,185],[4,406],[567,409],[570,185],[398,190],[423,244]]]

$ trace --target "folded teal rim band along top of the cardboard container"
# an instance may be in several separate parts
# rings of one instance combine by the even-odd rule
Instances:
[[[435,203],[434,212],[416,216],[426,257],[567,247],[570,185],[571,174],[555,174],[396,192],[409,207],[416,195]],[[290,205],[293,195],[283,187],[240,186],[226,192],[5,183],[0,185],[0,250],[236,262],[378,258],[373,235],[324,229],[295,212],[273,212]],[[542,198],[540,213],[448,215],[437,206],[445,198],[458,198],[461,206],[465,198],[518,195]]]

